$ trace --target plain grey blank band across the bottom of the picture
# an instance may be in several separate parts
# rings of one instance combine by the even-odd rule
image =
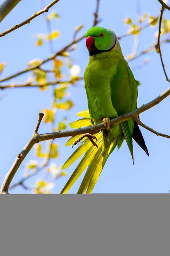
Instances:
[[[0,255],[169,256],[170,195],[0,195]]]

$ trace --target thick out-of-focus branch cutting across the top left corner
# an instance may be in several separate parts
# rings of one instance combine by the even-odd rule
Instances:
[[[0,23],[21,0],[5,0],[0,4]]]

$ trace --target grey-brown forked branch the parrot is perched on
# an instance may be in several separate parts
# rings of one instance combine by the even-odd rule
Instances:
[[[115,119],[112,119],[111,125],[118,124],[118,123],[123,122],[128,119],[135,119],[136,116],[139,116],[139,114],[141,114],[142,112],[147,111],[148,109],[152,108],[153,106],[159,104],[163,99],[165,99],[169,95],[170,95],[170,87],[166,91],[161,93],[161,95],[159,95],[152,101],[148,102],[147,104],[142,105],[142,107],[136,109],[135,111],[127,113],[122,116],[118,116]],[[37,125],[34,129],[33,135],[31,137],[31,139],[28,141],[28,143],[26,144],[26,146],[23,148],[23,150],[20,152],[20,154],[17,155],[17,158],[14,161],[13,165],[11,166],[11,169],[6,174],[5,179],[3,181],[3,185],[1,186],[1,189],[0,189],[0,193],[3,193],[3,194],[8,193],[8,188],[11,183],[11,180],[13,179],[15,173],[17,172],[18,168],[20,167],[20,164],[23,162],[24,158],[26,157],[28,152],[31,150],[31,148],[34,146],[34,144],[39,143],[41,141],[45,141],[45,140],[54,140],[54,139],[63,138],[63,137],[74,137],[74,136],[80,135],[80,134],[86,134],[86,133],[94,134],[95,131],[104,129],[104,123],[101,123],[98,125],[88,126],[88,127],[79,128],[79,129],[73,129],[70,131],[57,131],[57,132],[51,132],[51,133],[47,133],[47,134],[38,134],[37,131],[40,126],[40,122],[42,120],[43,115],[44,115],[43,113],[39,113],[39,119],[38,119]],[[156,134],[158,134],[158,133],[156,132]],[[162,136],[162,134],[160,136]]]

